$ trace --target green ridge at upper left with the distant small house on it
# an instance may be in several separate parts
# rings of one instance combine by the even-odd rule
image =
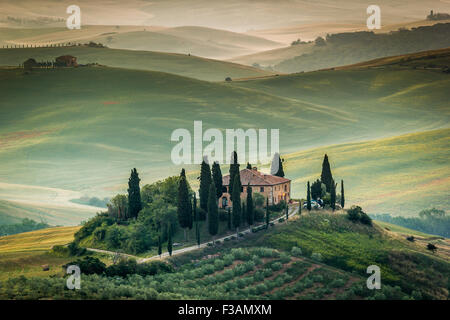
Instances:
[[[0,65],[18,66],[31,57],[37,61],[53,61],[55,57],[66,54],[77,57],[81,64],[97,62],[111,67],[168,72],[207,81],[272,74],[236,63],[186,54],[88,47],[1,49]]]

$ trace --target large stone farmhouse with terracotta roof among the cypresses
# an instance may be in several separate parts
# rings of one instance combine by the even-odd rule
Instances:
[[[269,204],[278,204],[284,200],[289,202],[291,194],[291,180],[264,174],[256,167],[252,169],[243,169],[240,171],[241,176],[241,199],[246,199],[247,188],[250,184],[253,193],[261,193],[265,198],[269,199]],[[230,176],[226,175],[222,178],[223,194],[219,199],[219,207],[226,208],[232,206],[229,194]]]

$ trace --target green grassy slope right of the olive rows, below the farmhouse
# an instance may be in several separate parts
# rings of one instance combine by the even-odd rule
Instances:
[[[420,288],[432,297],[448,298],[450,261],[446,255],[431,254],[422,243],[392,237],[379,227],[352,223],[344,215],[312,212],[249,245],[281,250],[298,246],[303,252],[320,253],[326,264],[362,276],[375,264],[381,268],[382,283],[400,285],[409,292]]]

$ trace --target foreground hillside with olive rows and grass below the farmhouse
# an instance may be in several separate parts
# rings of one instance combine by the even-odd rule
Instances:
[[[6,238],[10,245],[16,241],[20,246],[35,235]],[[432,254],[421,243],[412,244],[377,225],[350,222],[341,214],[303,214],[240,240],[174,256],[167,260],[173,271],[138,277],[142,281],[116,276],[111,282],[105,275],[83,275],[81,290],[64,293],[61,273],[53,271],[49,278],[33,267],[14,273],[20,262],[11,259],[0,260],[0,268],[5,271],[9,266],[10,278],[25,275],[21,288],[30,290],[17,290],[17,280],[12,279],[0,286],[2,298],[447,299],[449,292],[450,264],[439,250]],[[31,264],[51,261],[51,270],[68,258],[55,259],[53,254],[28,258]],[[365,285],[366,268],[373,264],[382,270],[381,290],[368,290]],[[45,290],[31,289],[32,282],[45,284]]]

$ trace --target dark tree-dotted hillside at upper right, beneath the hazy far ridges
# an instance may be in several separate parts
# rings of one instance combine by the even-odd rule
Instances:
[[[307,72],[450,46],[450,23],[383,32],[386,33],[359,31],[327,34],[323,45],[290,46],[235,57],[230,61],[248,65],[259,63],[285,73]]]

